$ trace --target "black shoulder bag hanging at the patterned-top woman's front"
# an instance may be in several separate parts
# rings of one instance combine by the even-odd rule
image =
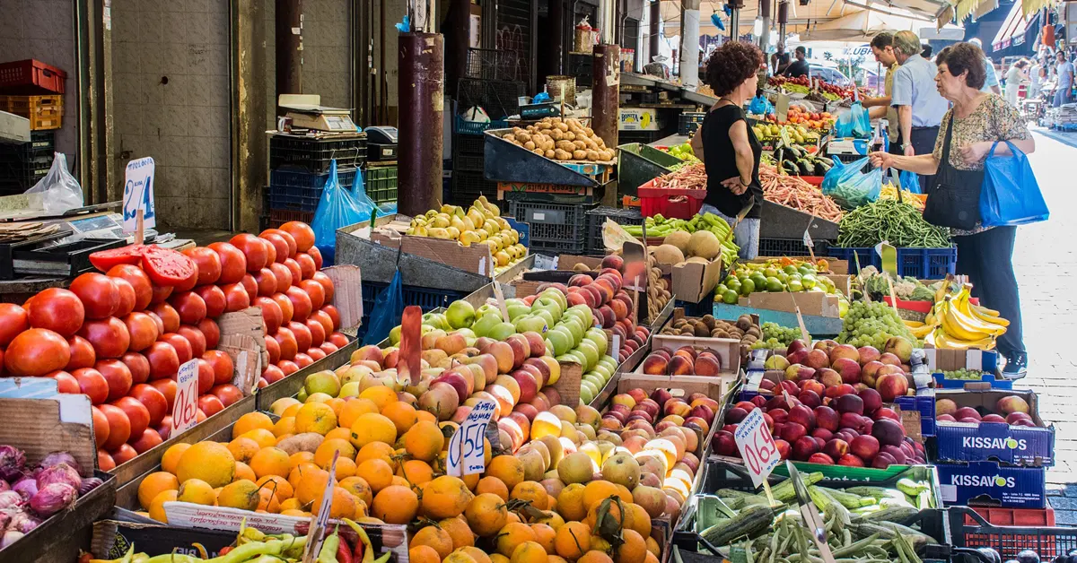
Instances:
[[[980,221],[980,186],[983,170],[957,170],[950,165],[953,113],[942,139],[942,159],[935,175],[935,188],[924,205],[924,221],[940,227],[971,230]]]

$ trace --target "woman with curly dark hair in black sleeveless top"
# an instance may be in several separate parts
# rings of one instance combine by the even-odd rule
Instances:
[[[744,103],[755,95],[763,65],[755,45],[730,41],[707,61],[707,84],[721,99],[703,118],[693,149],[707,168],[707,198],[700,213],[715,213],[730,225],[744,208],[751,208],[733,230],[740,256],[751,259],[759,252],[759,156],[763,145],[744,118]]]

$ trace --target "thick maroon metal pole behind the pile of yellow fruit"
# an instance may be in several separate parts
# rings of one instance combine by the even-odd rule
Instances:
[[[437,33],[400,36],[401,213],[418,215],[442,202],[444,40]]]

